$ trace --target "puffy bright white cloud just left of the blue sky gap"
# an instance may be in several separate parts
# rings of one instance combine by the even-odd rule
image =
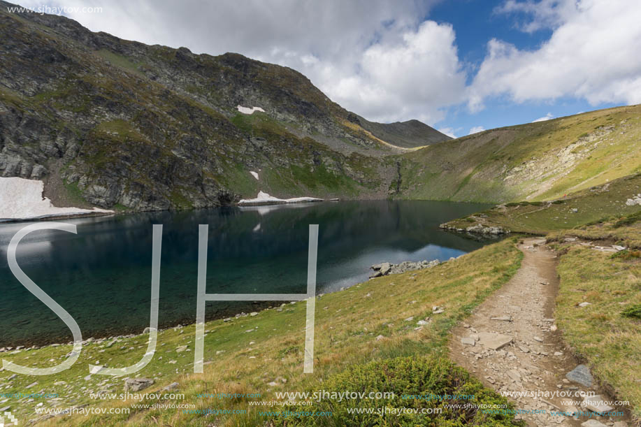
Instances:
[[[375,43],[356,65],[359,73],[319,83],[331,99],[373,120],[415,117],[432,124],[444,117],[441,108],[463,101],[466,76],[449,24],[426,21],[400,39]]]

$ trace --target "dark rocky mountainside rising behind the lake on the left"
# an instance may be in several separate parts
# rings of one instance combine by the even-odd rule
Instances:
[[[0,175],[44,180],[55,203],[201,208],[259,189],[385,197],[397,168],[387,155],[401,152],[389,144],[438,139],[413,122],[408,131],[361,126],[290,68],[123,41],[7,6],[0,1]]]

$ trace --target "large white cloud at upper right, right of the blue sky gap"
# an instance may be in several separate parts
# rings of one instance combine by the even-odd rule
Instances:
[[[581,0],[572,2],[571,11],[568,2],[561,2],[562,10],[552,10],[552,3],[505,3],[512,8],[540,6],[547,12],[534,13],[533,22],[555,29],[549,41],[532,51],[489,41],[487,57],[469,88],[470,110],[482,109],[487,97],[502,95],[518,103],[563,96],[592,105],[641,102],[638,2]]]

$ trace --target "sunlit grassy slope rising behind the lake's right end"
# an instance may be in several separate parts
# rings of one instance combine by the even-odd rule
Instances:
[[[641,172],[641,106],[492,129],[400,160],[401,198],[552,200]]]

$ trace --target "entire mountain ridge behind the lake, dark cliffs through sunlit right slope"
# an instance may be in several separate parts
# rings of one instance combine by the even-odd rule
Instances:
[[[7,5],[0,175],[43,180],[55,205],[206,208],[258,191],[503,203],[641,171],[640,106],[451,139],[417,120],[369,122],[291,68],[124,41]]]

